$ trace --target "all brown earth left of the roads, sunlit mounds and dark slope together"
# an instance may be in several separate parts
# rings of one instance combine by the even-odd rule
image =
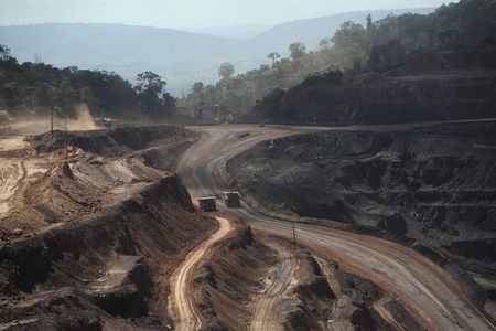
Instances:
[[[171,151],[186,148],[195,135],[168,127],[140,128],[134,137],[120,130],[128,129],[3,145],[1,329],[170,323],[172,271],[217,225],[195,211],[176,175],[147,166],[139,149],[160,151],[155,142]],[[164,168],[173,163],[173,156],[164,156]]]

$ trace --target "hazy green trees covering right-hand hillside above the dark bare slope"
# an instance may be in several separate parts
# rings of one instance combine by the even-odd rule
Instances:
[[[495,0],[462,0],[442,6],[431,14],[391,15],[377,22],[368,17],[366,26],[354,22],[342,24],[334,36],[321,41],[317,51],[293,43],[289,46],[289,58],[271,52],[268,54],[271,66],[261,65],[237,76],[222,75],[216,85],[193,89],[181,103],[193,107],[202,99],[206,105],[218,104],[230,111],[248,111],[272,90],[276,89],[266,102],[273,102],[311,74],[377,71],[417,54],[478,47],[495,41]]]

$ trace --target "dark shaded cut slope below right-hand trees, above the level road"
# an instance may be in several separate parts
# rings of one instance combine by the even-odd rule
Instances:
[[[277,124],[395,124],[494,117],[496,50],[419,56],[384,72],[309,77],[248,116]]]

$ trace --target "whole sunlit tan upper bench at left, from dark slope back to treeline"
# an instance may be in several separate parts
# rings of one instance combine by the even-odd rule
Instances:
[[[162,178],[161,170],[175,170],[177,154],[196,139],[184,128],[150,126],[46,132],[6,147],[0,238],[60,226],[127,199]]]

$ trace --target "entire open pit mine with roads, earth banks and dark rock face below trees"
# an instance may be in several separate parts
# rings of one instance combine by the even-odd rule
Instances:
[[[0,330],[495,330],[495,121],[0,129]]]

